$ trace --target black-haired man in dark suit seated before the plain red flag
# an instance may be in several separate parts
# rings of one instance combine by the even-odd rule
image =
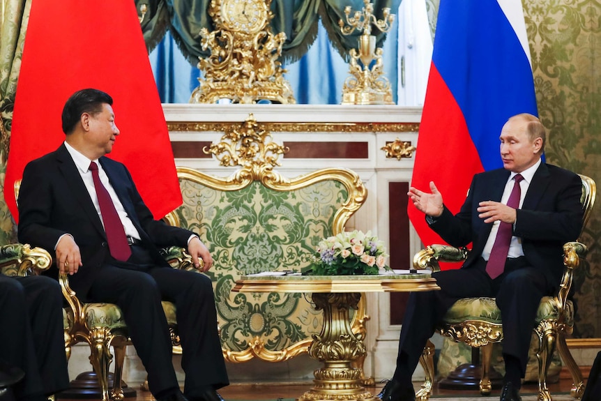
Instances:
[[[125,166],[105,157],[119,135],[112,103],[96,89],[67,100],[65,142],[24,169],[19,239],[54,250],[80,299],[119,305],[157,400],[220,401],[216,389],[229,382],[211,280],[169,268],[158,248],[186,247],[204,271],[213,259],[193,232],[154,220]],[[161,300],[176,304],[184,395]]]

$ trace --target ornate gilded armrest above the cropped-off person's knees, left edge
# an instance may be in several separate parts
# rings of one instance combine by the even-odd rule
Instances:
[[[0,246],[0,273],[4,275],[37,275],[50,266],[52,257],[43,248],[31,248],[26,243]]]

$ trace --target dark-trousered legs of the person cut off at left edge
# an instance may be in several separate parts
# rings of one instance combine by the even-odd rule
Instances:
[[[45,401],[68,388],[58,282],[0,275],[0,327],[0,400]]]

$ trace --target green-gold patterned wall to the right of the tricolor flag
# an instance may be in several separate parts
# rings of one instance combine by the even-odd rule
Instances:
[[[547,160],[601,183],[601,1],[524,0]],[[601,209],[581,236],[588,264],[575,271],[575,337],[601,338]]]

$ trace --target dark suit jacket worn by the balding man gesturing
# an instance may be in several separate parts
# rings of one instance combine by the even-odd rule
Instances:
[[[452,215],[445,207],[430,225],[450,245],[461,247],[473,242],[464,268],[473,266],[480,257],[492,229],[492,223],[486,224],[478,217],[478,204],[501,202],[509,176],[506,169],[476,174],[459,213]],[[576,241],[581,231],[581,192],[582,181],[577,174],[542,163],[528,187],[522,209],[517,210],[513,235],[522,239],[528,264],[540,268],[553,289],[563,275],[563,244]]]

